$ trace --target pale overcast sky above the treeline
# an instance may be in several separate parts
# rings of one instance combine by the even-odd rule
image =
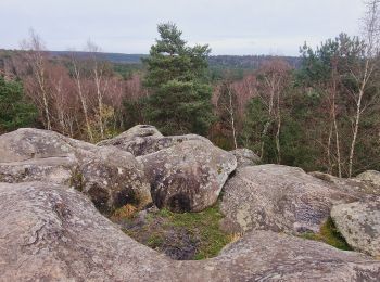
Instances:
[[[358,35],[363,0],[0,0],[0,49],[20,49],[33,28],[49,50],[148,53],[156,25],[176,23],[212,54],[297,55],[344,31]]]

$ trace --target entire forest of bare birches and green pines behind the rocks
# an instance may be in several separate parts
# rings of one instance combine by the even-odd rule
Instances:
[[[300,42],[299,57],[210,56],[162,23],[141,64],[92,41],[50,52],[30,30],[21,50],[0,50],[0,133],[37,127],[96,143],[151,124],[251,149],[263,163],[380,170],[380,23],[368,9],[360,36]]]

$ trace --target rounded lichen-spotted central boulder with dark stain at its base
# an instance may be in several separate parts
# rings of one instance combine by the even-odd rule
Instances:
[[[236,157],[208,142],[188,140],[137,157],[150,180],[153,202],[173,211],[200,211],[213,205]]]

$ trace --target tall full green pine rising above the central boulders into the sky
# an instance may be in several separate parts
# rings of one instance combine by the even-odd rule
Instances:
[[[206,73],[211,50],[188,47],[175,24],[160,24],[157,29],[161,38],[143,60],[143,82],[150,91],[147,118],[164,133],[206,134],[213,121]]]

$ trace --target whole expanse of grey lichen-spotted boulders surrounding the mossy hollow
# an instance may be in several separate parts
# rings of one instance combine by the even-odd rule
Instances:
[[[98,145],[38,129],[0,136],[0,280],[380,280],[376,171],[344,180],[257,162],[152,126]],[[128,205],[195,213],[218,198],[221,227],[240,239],[199,261],[173,260],[106,217]],[[357,252],[301,238],[331,218]]]

